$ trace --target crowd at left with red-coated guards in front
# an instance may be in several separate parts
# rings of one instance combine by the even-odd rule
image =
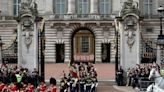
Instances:
[[[0,92],[57,92],[56,79],[50,78],[47,86],[44,78],[34,69],[2,64],[0,68]]]

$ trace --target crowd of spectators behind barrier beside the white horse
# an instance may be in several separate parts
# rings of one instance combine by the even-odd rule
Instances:
[[[140,80],[142,81],[152,81],[149,80],[149,73],[152,68],[160,71],[160,67],[157,63],[144,63],[137,64],[134,68],[129,68],[127,71],[127,86],[132,86],[133,88],[140,87]]]

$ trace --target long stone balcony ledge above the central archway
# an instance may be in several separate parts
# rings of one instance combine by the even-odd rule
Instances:
[[[43,15],[48,20],[113,20],[114,14],[52,14]]]

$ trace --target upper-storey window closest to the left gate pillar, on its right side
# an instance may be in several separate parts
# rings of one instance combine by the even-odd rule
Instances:
[[[56,14],[65,14],[66,13],[66,0],[53,0],[53,9]]]

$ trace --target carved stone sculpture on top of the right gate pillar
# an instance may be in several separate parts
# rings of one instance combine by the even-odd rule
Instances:
[[[133,0],[127,0],[124,2],[120,15],[123,16],[128,13],[139,15],[138,2],[134,2]]]

